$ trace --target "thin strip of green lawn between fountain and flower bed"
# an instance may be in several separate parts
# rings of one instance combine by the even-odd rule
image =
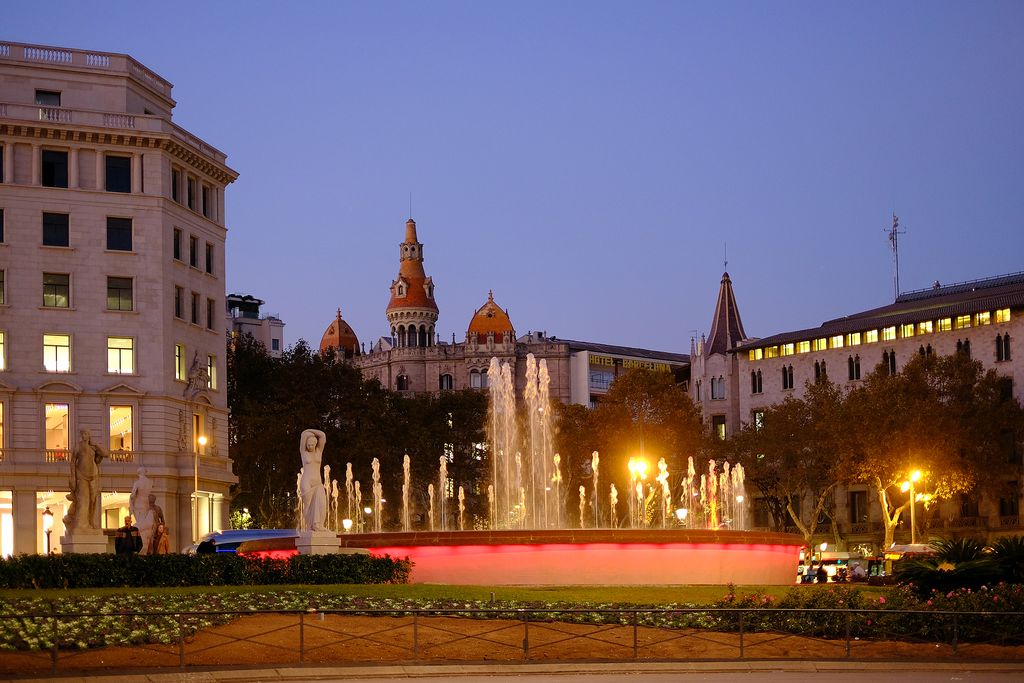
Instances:
[[[781,598],[791,590],[801,592],[825,591],[828,586],[737,586],[737,594],[762,593]],[[889,589],[859,585],[866,596],[885,595]],[[307,592],[316,594],[351,595],[359,597],[408,598],[413,600],[495,600],[514,602],[568,602],[589,604],[639,604],[660,605],[671,603],[711,604],[728,593],[726,586],[442,586],[428,584],[408,585],[351,585],[333,586],[196,586],[187,588],[106,588],[78,590],[0,590],[0,599],[24,598],[50,599],[77,596],[104,595],[203,595],[214,593],[268,593],[273,591]]]

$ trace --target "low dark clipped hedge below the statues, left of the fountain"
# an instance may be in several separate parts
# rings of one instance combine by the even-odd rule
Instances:
[[[412,566],[387,555],[17,555],[0,560],[0,588],[406,584]]]

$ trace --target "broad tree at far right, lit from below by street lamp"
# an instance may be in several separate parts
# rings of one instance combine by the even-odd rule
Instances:
[[[885,548],[911,504],[900,490],[911,472],[937,501],[1019,476],[1021,407],[1004,387],[994,371],[955,353],[914,356],[896,375],[880,365],[850,392],[843,462],[850,481],[878,496]]]

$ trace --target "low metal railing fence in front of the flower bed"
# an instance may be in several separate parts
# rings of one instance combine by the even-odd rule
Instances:
[[[1024,612],[394,608],[0,614],[0,677],[425,661],[1024,660]]]

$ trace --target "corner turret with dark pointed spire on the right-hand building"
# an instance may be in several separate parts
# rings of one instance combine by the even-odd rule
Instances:
[[[711,333],[690,347],[691,392],[713,431],[726,438],[739,430],[739,361],[731,353],[746,338],[729,273],[722,273]]]

